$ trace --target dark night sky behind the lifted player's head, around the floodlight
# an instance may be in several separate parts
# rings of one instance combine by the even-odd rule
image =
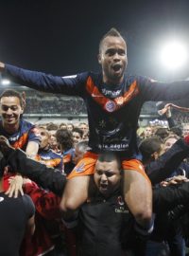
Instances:
[[[127,38],[129,74],[170,79],[155,57],[163,38],[189,49],[188,0],[1,0],[0,13],[0,60],[54,75],[98,71],[98,43],[111,27]],[[174,77],[189,77],[188,66]]]

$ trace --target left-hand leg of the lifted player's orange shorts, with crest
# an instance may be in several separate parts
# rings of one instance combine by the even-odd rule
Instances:
[[[71,174],[67,176],[67,179],[71,179],[76,176],[84,176],[94,174],[94,165],[98,155],[87,152],[83,158],[77,163]]]

